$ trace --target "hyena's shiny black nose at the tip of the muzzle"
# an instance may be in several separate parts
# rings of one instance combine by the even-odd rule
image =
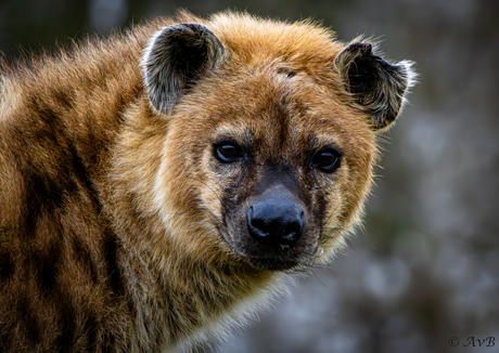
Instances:
[[[305,211],[291,194],[266,193],[247,209],[250,235],[260,243],[290,245],[302,236]]]

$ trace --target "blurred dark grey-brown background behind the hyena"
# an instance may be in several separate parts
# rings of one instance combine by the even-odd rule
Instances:
[[[314,17],[343,41],[381,37],[421,74],[348,253],[206,351],[499,352],[499,1],[0,0],[0,55],[179,8]]]

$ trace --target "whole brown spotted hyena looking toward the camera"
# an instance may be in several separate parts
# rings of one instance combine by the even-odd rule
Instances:
[[[374,51],[183,12],[3,64],[0,351],[190,350],[327,264],[414,82]]]

